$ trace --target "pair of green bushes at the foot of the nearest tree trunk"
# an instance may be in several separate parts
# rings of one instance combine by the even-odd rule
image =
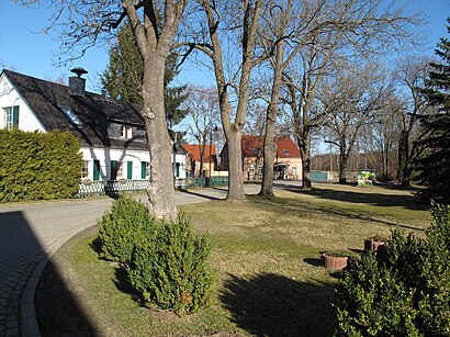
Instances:
[[[182,315],[206,304],[211,245],[182,215],[158,220],[145,204],[120,198],[99,221],[99,238],[102,257],[122,262],[145,305]]]

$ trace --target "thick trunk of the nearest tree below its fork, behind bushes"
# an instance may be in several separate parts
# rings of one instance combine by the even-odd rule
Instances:
[[[176,218],[170,138],[164,106],[165,57],[147,58],[143,81],[143,116],[150,151],[148,207],[157,217]]]

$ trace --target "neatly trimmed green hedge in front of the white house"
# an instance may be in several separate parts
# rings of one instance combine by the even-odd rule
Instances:
[[[68,132],[0,130],[0,202],[70,198],[82,155]]]

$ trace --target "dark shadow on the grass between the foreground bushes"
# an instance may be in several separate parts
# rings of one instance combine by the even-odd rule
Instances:
[[[229,276],[220,300],[232,319],[257,336],[329,336],[333,285],[260,273]]]

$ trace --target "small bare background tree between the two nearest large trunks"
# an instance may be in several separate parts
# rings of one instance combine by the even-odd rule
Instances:
[[[203,177],[205,147],[214,143],[213,133],[220,122],[217,92],[214,88],[190,86],[183,108],[188,111],[188,134],[200,145],[199,177]]]

